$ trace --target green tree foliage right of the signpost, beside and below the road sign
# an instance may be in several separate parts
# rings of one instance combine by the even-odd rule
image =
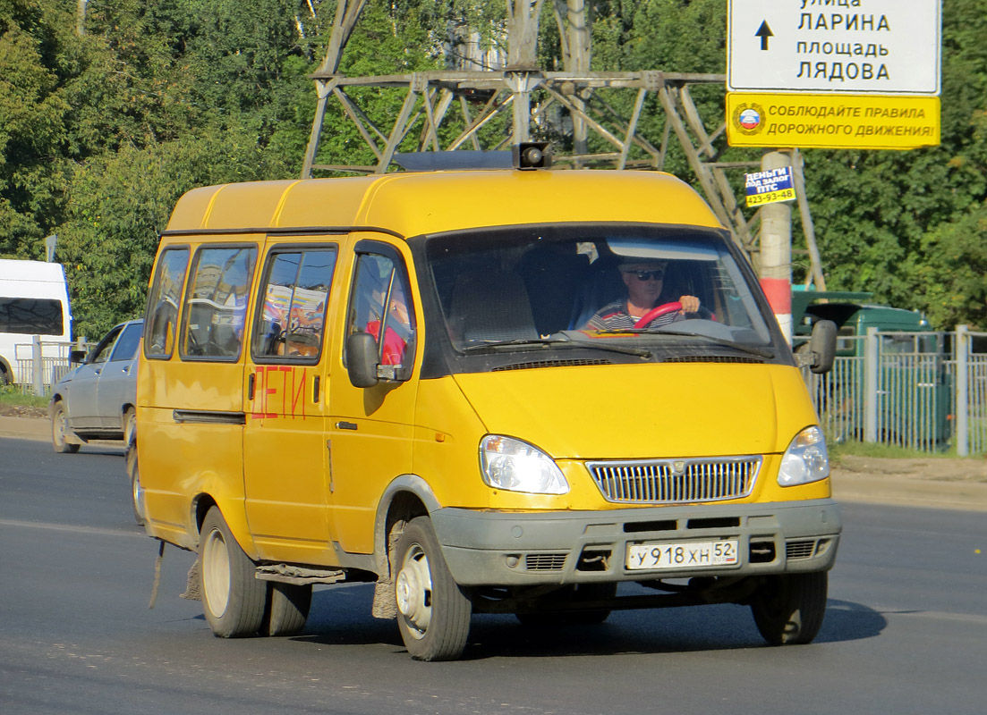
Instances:
[[[974,260],[967,232],[987,199],[985,36],[987,0],[944,2],[941,146],[805,152],[827,287],[873,291],[941,328],[983,321],[984,288],[954,261]]]

